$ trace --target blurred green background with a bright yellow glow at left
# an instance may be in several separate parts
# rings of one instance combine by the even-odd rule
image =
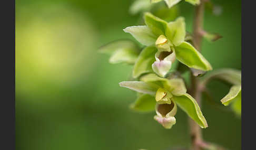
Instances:
[[[122,30],[140,23],[141,15],[129,13],[132,2],[16,1],[16,149],[189,146],[187,115],[178,110],[176,125],[165,130],[153,120],[155,112],[129,110],[136,94],[118,83],[129,80],[132,66],[111,65],[109,56],[97,52],[116,39],[134,40]],[[206,9],[204,27],[223,38],[203,40],[202,53],[213,69],[241,69],[241,1],[212,2],[222,14]],[[179,6],[191,31],[194,6]],[[218,107],[203,101],[205,140],[241,149],[241,119],[219,102],[228,85],[214,81],[209,88]]]

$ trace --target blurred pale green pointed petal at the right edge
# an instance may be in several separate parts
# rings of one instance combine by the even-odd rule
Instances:
[[[241,85],[233,85],[230,91],[223,99],[221,103],[225,106],[229,105],[230,102],[241,99]]]

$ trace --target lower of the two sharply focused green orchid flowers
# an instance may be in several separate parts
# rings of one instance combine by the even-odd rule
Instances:
[[[185,84],[182,79],[166,79],[156,76],[154,73],[149,73],[142,76],[140,80],[141,81],[123,81],[120,82],[120,86],[140,93],[154,95],[157,114],[154,119],[165,128],[171,128],[172,125],[176,123],[174,117],[176,114],[176,104],[198,123],[200,127],[208,127],[198,103],[196,103],[191,95],[186,93]],[[135,103],[140,103],[140,105],[142,105],[142,103],[149,103],[143,105],[147,106],[147,110],[152,109],[153,102],[152,96],[150,95],[140,95]]]

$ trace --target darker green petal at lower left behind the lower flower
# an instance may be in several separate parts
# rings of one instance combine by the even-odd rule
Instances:
[[[155,98],[149,94],[140,95],[130,108],[139,112],[150,112],[155,110]]]

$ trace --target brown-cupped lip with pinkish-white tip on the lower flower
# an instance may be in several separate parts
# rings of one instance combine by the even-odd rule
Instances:
[[[176,123],[174,115],[177,112],[177,106],[175,102],[171,104],[156,104],[155,112],[157,115],[154,116],[154,119],[164,128],[170,129]]]

